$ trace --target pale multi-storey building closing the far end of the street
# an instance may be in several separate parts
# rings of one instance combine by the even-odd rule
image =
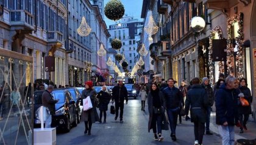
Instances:
[[[109,39],[109,48],[113,39],[117,38],[122,41],[122,47],[116,50],[117,53],[124,55],[127,63],[129,64],[127,69],[132,72],[133,66],[138,61],[138,42],[140,42],[140,35],[143,29],[143,21],[133,19],[132,16],[124,16],[119,24],[109,25],[108,31],[111,35]],[[122,70],[122,66],[118,64],[119,70]]]

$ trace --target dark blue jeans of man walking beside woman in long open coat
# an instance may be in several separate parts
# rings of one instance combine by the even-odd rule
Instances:
[[[174,135],[176,134],[176,126],[177,126],[179,110],[180,110],[179,107],[177,107],[176,109],[166,109],[170,128],[171,128],[171,134],[174,134]]]

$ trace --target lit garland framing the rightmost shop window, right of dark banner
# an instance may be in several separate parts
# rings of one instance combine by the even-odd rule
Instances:
[[[243,47],[242,47],[242,44],[243,44],[243,40],[244,40],[244,28],[243,28],[243,18],[244,18],[244,15],[243,13],[239,13],[238,15],[236,16],[233,16],[232,18],[229,18],[227,20],[227,36],[228,36],[228,39],[227,39],[227,72],[230,74],[230,75],[234,75],[234,66],[235,66],[235,69],[237,70],[237,77],[238,78],[243,78],[244,76],[244,70],[243,70]],[[234,50],[233,50],[233,38],[232,38],[232,25],[235,23],[235,22],[238,22],[238,34],[239,36],[237,38],[235,38],[235,41],[236,41],[236,44],[238,46],[238,52],[237,52],[237,55],[236,55],[236,63],[237,64],[233,64],[234,62]]]

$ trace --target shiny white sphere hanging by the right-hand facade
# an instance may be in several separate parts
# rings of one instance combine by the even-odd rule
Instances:
[[[190,21],[191,28],[194,30],[194,32],[201,32],[204,30],[205,27],[205,21],[200,16],[195,16]]]

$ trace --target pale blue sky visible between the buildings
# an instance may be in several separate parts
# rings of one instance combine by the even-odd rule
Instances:
[[[104,5],[107,4],[107,2],[110,0],[104,0]],[[133,19],[141,19],[141,8],[142,8],[142,2],[143,0],[120,0],[122,4],[124,5],[124,15],[133,16]],[[116,24],[115,21],[108,19],[106,16],[104,16],[105,22],[108,25]]]

